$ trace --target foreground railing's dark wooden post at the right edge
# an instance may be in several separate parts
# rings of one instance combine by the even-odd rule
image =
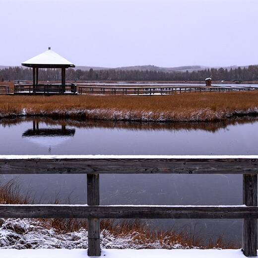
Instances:
[[[257,175],[243,175],[243,201],[257,206]],[[245,256],[257,256],[257,219],[243,219],[242,251]]]

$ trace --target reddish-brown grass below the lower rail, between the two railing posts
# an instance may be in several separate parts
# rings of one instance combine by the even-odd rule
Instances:
[[[201,249],[237,249],[238,245],[227,243],[223,240],[223,235],[218,238],[209,238],[207,235],[199,235],[192,229],[184,227],[182,229],[172,228],[170,230],[154,230],[146,226],[142,220],[102,220],[101,228],[108,230],[111,234],[121,238],[131,237],[131,242],[146,248],[153,248],[157,243],[164,249],[173,249],[180,245],[180,248],[198,247]],[[208,241],[207,241],[208,240]],[[146,246],[149,244],[149,247]]]

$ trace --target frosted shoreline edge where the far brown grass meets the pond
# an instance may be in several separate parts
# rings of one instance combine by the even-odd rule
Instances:
[[[53,119],[73,119],[73,120],[104,120],[104,121],[124,121],[124,122],[152,122],[152,123],[193,123],[193,122],[222,122],[232,118],[258,117],[258,108],[250,110],[236,110],[233,112],[212,112],[210,109],[196,110],[192,113],[164,114],[153,112],[134,112],[120,110],[72,110],[53,111],[50,113],[34,113],[23,110],[20,113],[0,114],[0,119],[13,119],[22,117],[48,117]]]

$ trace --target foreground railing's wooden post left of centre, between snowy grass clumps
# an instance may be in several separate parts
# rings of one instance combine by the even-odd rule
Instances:
[[[87,203],[99,205],[99,174],[87,174]],[[100,256],[99,219],[88,219],[88,256]]]

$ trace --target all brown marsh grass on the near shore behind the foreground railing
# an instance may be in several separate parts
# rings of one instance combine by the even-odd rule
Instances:
[[[34,201],[30,198],[29,192],[22,194],[18,181],[10,180],[7,183],[0,184],[0,204],[31,204]],[[56,200],[56,203],[59,201]],[[81,228],[87,229],[86,219],[38,219],[40,228],[55,229],[59,234],[80,231]],[[4,219],[0,219],[0,226],[4,223]],[[7,223],[17,234],[22,234],[23,227],[19,227],[17,221],[14,225]],[[170,230],[155,230],[146,224],[144,220],[114,220],[103,219],[100,222],[100,230],[104,239],[114,238],[126,239],[129,245],[134,248],[239,248],[234,243],[226,243],[223,241],[223,235],[217,239],[210,238],[207,241],[207,236],[200,232],[184,227],[182,229],[172,228]]]

